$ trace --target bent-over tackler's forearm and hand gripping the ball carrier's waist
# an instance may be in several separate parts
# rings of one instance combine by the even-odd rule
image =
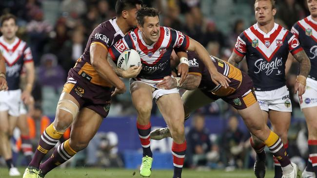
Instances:
[[[166,76],[164,77],[164,80],[162,82],[159,82],[157,84],[157,87],[159,89],[182,88],[187,90],[194,90],[197,89],[200,84],[201,75],[189,73],[185,78],[184,82],[182,83],[182,85],[179,85],[178,79],[179,77],[173,78],[171,76]]]

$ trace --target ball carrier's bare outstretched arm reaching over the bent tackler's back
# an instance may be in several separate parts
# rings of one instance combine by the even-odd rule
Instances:
[[[219,85],[220,83],[221,86],[223,86],[224,88],[229,87],[229,78],[217,71],[217,68],[210,60],[209,53],[200,43],[198,43],[196,40],[192,38],[189,38],[189,46],[187,50],[194,51],[198,55],[198,57],[202,60],[202,62],[208,69],[211,75],[211,79],[216,85]]]

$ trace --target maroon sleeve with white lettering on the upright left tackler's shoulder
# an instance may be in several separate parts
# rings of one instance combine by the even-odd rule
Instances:
[[[114,36],[110,33],[110,27],[106,27],[106,24],[100,24],[90,35],[90,45],[99,44],[108,49],[113,41]]]

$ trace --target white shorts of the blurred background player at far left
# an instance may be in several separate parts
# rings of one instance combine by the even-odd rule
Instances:
[[[0,91],[0,111],[11,116],[20,116],[21,89]]]

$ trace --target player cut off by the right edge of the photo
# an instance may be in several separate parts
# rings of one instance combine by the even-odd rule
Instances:
[[[307,0],[310,16],[297,21],[292,33],[308,55],[312,69],[307,78],[305,93],[299,97],[308,128],[309,159],[302,178],[316,178],[317,175],[317,0]]]

